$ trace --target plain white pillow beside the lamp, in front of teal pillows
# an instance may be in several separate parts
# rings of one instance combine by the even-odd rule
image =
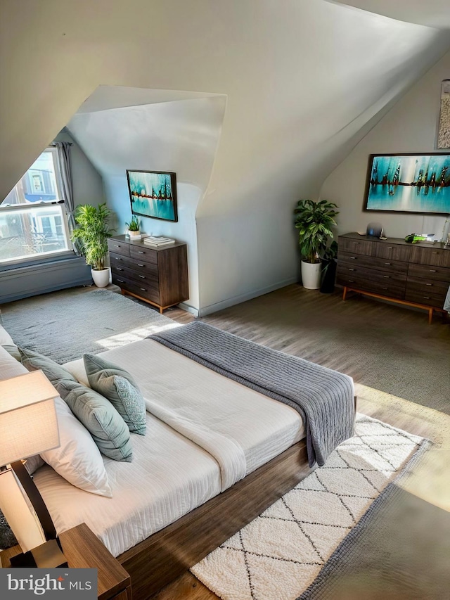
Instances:
[[[108,473],[91,434],[64,400],[57,397],[55,404],[60,447],[42,452],[41,457],[72,485],[92,494],[113,497]]]

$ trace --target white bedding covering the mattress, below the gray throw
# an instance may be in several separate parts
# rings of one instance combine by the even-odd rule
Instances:
[[[58,532],[84,521],[115,556],[304,437],[294,409],[154,340],[102,356],[127,369],[146,399],[148,431],[131,434],[134,460],[105,458],[112,499],[72,487],[49,467],[36,483]],[[87,384],[82,360],[65,367]]]

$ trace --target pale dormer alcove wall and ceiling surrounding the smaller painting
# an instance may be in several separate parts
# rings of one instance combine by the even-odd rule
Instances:
[[[142,231],[187,243],[190,298],[185,304],[197,314],[195,212],[210,181],[226,97],[217,95],[136,106],[133,98],[137,96],[143,101],[143,94],[134,91],[137,94],[120,89],[121,96],[126,96],[131,106],[101,110],[101,106],[110,106],[117,96],[117,89],[103,89],[102,102],[96,102],[96,112],[86,112],[86,105],[93,106],[93,101],[84,103],[82,112],[68,123],[68,129],[103,175],[108,206],[116,218],[113,226],[118,234],[125,233],[125,223],[131,218],[127,169],[176,172],[178,222],[139,219]]]

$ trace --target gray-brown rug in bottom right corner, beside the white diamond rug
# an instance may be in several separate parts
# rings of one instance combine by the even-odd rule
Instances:
[[[297,600],[450,599],[450,513],[400,481],[387,486]]]

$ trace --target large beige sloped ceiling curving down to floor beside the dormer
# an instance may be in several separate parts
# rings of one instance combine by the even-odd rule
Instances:
[[[196,212],[207,310],[296,278],[295,200],[319,193],[450,44],[448,32],[324,0],[3,0],[0,10],[5,195],[101,84],[226,95]]]

